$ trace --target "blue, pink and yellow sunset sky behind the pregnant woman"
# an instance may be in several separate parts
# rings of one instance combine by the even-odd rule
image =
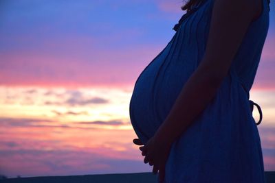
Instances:
[[[135,80],[173,37],[180,0],[0,0],[0,175],[148,172]],[[275,171],[275,2],[250,99]],[[257,110],[253,112],[258,121]]]

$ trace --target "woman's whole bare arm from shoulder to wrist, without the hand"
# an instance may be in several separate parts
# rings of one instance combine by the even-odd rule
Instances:
[[[254,19],[255,4],[251,0],[214,1],[203,60],[181,89],[155,136],[173,143],[213,99]]]

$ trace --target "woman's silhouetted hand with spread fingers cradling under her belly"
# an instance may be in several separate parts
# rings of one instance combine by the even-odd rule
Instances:
[[[133,143],[136,145],[143,145],[139,138],[133,139]],[[145,156],[144,163],[149,162],[153,165],[153,173],[157,174],[159,171],[159,180],[162,182],[165,175],[165,165],[170,154],[170,142],[162,141],[160,136],[153,136],[148,140],[146,145],[140,147],[142,156]]]

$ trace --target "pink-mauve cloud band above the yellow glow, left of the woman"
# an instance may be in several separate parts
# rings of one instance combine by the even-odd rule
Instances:
[[[66,43],[64,47],[66,47]],[[159,46],[151,47],[150,45],[120,50],[89,47],[90,50],[87,52],[81,50],[83,47],[78,48],[80,50],[79,58],[72,53],[69,56],[58,53],[48,55],[22,51],[2,54],[1,59],[5,62],[1,67],[0,84],[12,86],[132,84],[146,64],[151,62],[154,56],[161,51]],[[82,52],[83,54],[81,54]],[[89,56],[87,56],[88,54]]]

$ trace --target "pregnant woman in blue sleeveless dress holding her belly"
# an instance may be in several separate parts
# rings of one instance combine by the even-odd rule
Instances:
[[[137,78],[129,109],[133,143],[159,182],[265,182],[261,108],[249,92],[269,3],[188,1],[175,35]]]

